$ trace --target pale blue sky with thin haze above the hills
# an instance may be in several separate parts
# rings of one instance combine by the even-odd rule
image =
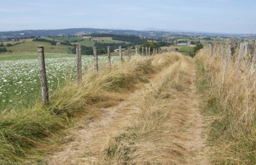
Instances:
[[[255,0],[6,0],[0,31],[99,28],[256,34]]]

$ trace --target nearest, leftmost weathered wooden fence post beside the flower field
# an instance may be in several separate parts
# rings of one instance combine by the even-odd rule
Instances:
[[[43,105],[48,105],[49,93],[48,93],[48,86],[47,86],[45,61],[44,61],[44,46],[37,46],[37,54],[38,54],[39,73],[40,73],[40,80],[41,80],[42,103]]]

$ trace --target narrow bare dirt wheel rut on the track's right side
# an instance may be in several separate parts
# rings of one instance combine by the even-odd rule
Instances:
[[[207,152],[209,147],[206,145],[206,122],[205,117],[200,113],[199,102],[200,98],[197,94],[195,86],[196,81],[196,70],[191,70],[192,84],[190,85],[190,91],[188,92],[187,103],[190,107],[187,121],[187,135],[188,141],[185,142],[185,146],[189,151],[190,155],[187,159],[188,164],[210,164],[207,161]]]

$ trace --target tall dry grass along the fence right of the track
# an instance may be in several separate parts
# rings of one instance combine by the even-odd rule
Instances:
[[[256,76],[250,61],[245,68],[243,62],[237,67],[236,55],[225,65],[221,51],[213,57],[209,47],[196,59],[199,89],[206,89],[207,113],[214,116],[212,163],[256,164]]]

